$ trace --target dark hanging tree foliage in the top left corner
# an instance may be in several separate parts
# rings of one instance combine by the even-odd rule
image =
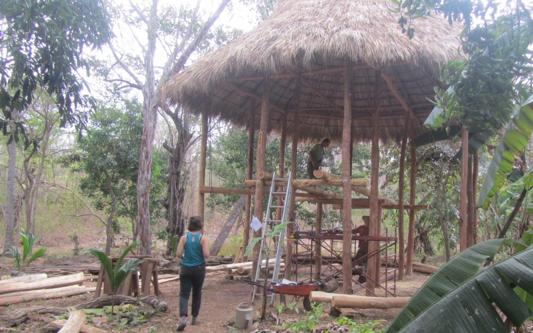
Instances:
[[[44,87],[53,96],[61,126],[85,125],[77,110],[92,104],[82,94],[79,69],[89,71],[82,57],[86,47],[106,44],[112,33],[102,0],[6,0],[0,4],[0,127],[7,134],[13,111],[23,111],[34,91]],[[23,121],[14,125],[15,140],[26,136]],[[37,143],[34,141],[34,145]]]

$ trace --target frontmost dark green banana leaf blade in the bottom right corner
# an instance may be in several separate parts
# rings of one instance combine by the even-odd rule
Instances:
[[[389,331],[508,332],[493,303],[520,327],[531,311],[515,292],[518,288],[533,295],[533,247],[475,275],[404,326],[395,320]]]

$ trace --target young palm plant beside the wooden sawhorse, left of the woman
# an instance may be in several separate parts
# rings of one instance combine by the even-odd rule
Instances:
[[[124,260],[124,257],[130,252],[134,247],[138,246],[141,242],[135,241],[130,244],[120,255],[118,258],[117,264],[115,265],[115,268],[112,267],[111,259],[104,253],[104,251],[100,249],[89,249],[87,252],[95,256],[98,261],[103,265],[104,269],[106,270],[107,277],[109,278],[109,283],[111,285],[111,293],[112,295],[116,296],[118,288],[128,274],[130,272],[136,272],[138,270],[137,266],[141,264],[143,261],[140,259],[128,259],[128,261],[122,265],[122,262]],[[122,265],[122,266],[121,266]],[[115,299],[115,297],[114,297]],[[111,313],[113,313],[113,307],[114,307],[114,299],[113,304],[111,304]]]

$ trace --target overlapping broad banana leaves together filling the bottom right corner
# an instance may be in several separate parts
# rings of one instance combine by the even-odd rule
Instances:
[[[456,256],[424,283],[387,332],[508,332],[533,311],[533,228],[520,241],[491,239]],[[520,251],[488,269],[506,244]]]

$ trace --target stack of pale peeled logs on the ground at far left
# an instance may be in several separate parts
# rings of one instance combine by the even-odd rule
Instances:
[[[49,278],[46,274],[27,275],[0,281],[0,306],[35,299],[59,298],[90,293],[95,288],[81,286],[83,272]]]

